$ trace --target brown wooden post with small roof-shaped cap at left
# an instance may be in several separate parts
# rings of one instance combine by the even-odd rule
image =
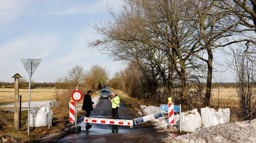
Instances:
[[[12,78],[15,78],[14,82],[14,126],[16,132],[19,131],[19,78],[21,76],[19,74],[15,74]]]

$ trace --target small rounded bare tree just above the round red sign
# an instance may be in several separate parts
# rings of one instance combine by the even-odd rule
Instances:
[[[78,86],[84,79],[85,70],[81,65],[76,65],[68,70],[68,78],[73,80],[75,84]]]

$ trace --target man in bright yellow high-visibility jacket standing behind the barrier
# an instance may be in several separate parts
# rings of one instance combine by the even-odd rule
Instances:
[[[111,92],[112,99],[109,97],[108,99],[112,102],[112,118],[118,119],[118,109],[120,98],[115,94],[115,92]]]

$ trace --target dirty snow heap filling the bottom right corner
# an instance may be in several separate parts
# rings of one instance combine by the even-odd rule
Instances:
[[[256,119],[218,124],[168,140],[172,143],[256,143]]]

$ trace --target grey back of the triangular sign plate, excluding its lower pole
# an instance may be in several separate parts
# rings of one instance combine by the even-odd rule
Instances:
[[[30,62],[31,62],[31,76],[35,73],[36,68],[42,61],[42,59],[37,59],[37,58],[22,58],[20,59],[23,66],[27,70],[28,76],[29,76],[29,68],[30,68]]]

